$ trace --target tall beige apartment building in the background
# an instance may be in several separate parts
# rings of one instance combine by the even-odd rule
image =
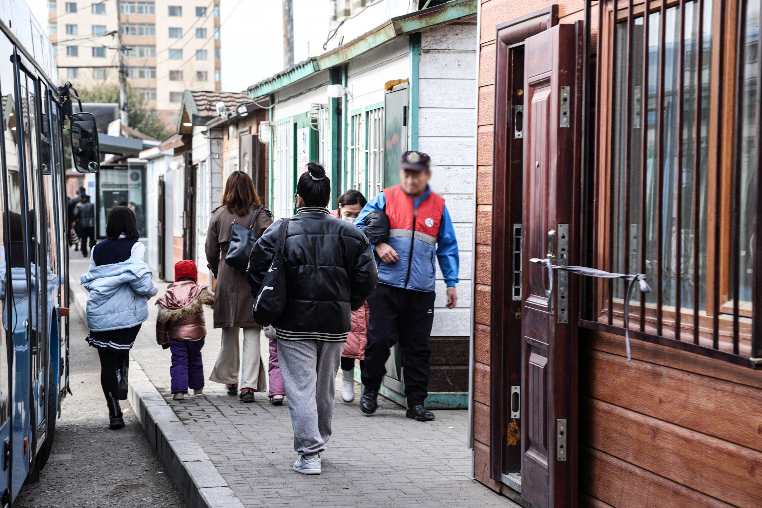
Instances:
[[[127,81],[177,123],[185,90],[220,90],[220,0],[48,0],[61,81],[79,89],[119,79],[119,32]]]

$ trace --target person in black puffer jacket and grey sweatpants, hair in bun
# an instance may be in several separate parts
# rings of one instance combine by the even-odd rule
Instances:
[[[251,252],[249,282],[258,293],[270,269],[280,227],[287,225],[285,309],[275,319],[278,361],[299,458],[293,470],[320,474],[320,453],[331,437],[336,372],[351,329],[378,274],[370,244],[354,225],[329,215],[331,181],[315,163],[296,184],[296,216],[277,221]]]

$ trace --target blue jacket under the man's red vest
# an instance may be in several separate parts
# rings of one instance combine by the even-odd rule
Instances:
[[[410,200],[413,201],[413,207],[418,210],[421,203],[427,200],[431,196],[431,189],[427,188],[423,196],[417,200],[413,200],[413,197],[408,194]],[[367,205],[363,207],[360,215],[357,216],[357,220],[354,222],[357,227],[362,229],[365,225],[365,218],[368,213],[374,210],[383,210],[386,206],[386,194],[381,192],[370,200]],[[387,214],[388,215],[388,214]],[[424,241],[418,241],[416,238],[413,248],[413,259],[419,260],[421,256],[431,256],[430,261],[427,264],[431,265],[430,270],[424,270],[423,260],[420,260],[420,270],[411,270],[411,274],[407,277],[408,264],[411,262],[411,241],[409,235],[407,238],[389,238],[389,245],[397,251],[399,254],[399,260],[395,263],[386,264],[376,257],[376,263],[379,270],[379,283],[386,284],[388,286],[401,287],[405,289],[415,289],[417,291],[434,291],[436,284],[436,270],[434,270],[434,249],[431,246],[425,244]],[[373,246],[375,248],[375,245]],[[431,249],[431,254],[429,254]],[[458,254],[458,241],[455,238],[455,228],[453,228],[453,221],[450,219],[450,212],[447,211],[447,206],[443,207],[442,218],[439,227],[439,233],[437,235],[437,248],[436,257],[439,260],[439,267],[442,270],[442,276],[447,287],[454,287],[456,283],[459,283],[458,279],[458,267],[459,267],[459,254]],[[405,285],[407,281],[407,285]]]

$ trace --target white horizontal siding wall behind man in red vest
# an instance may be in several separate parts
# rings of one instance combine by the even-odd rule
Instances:
[[[477,48],[475,22],[435,27],[421,37],[418,149],[436,165],[431,187],[444,196],[460,252],[456,308],[444,306],[447,290],[437,266],[434,336],[465,336],[470,328]]]

